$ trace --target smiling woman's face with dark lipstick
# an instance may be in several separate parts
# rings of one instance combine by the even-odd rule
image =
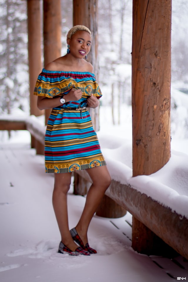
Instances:
[[[91,48],[91,36],[87,31],[79,30],[67,39],[70,45],[70,54],[76,58],[84,58]]]

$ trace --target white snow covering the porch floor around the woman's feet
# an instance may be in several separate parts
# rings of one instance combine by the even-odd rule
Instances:
[[[119,219],[93,217],[88,238],[98,254],[58,254],[60,234],[51,202],[53,175],[45,174],[44,157],[30,149],[26,135],[21,136],[0,144],[0,281],[170,282],[187,276],[187,270],[170,259],[132,250],[131,227],[126,224],[132,222],[129,213]],[[85,203],[85,197],[72,192],[71,185],[70,228],[77,224]],[[181,256],[176,260],[188,269]]]

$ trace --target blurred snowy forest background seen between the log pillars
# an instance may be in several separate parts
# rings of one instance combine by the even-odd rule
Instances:
[[[62,0],[61,5],[63,56],[66,34],[72,27],[72,0]],[[98,0],[98,5],[101,106],[111,107],[110,122],[120,124],[120,107],[131,105],[132,0]],[[29,114],[27,3],[0,0],[0,15],[0,114],[14,109]],[[188,1],[172,0],[172,122],[182,107],[177,90],[188,97],[187,15]],[[188,105],[184,107],[182,137],[188,137]],[[115,118],[113,108],[118,109]]]

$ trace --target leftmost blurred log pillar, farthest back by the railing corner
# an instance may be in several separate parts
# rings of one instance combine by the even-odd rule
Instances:
[[[28,63],[29,63],[29,88],[30,88],[30,114],[39,116],[44,114],[37,108],[37,96],[33,95],[33,90],[42,69],[41,51],[41,9],[40,0],[27,0],[28,16]],[[31,147],[36,148],[37,140],[31,136]]]

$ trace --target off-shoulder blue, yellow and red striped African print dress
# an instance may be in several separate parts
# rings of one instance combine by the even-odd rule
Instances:
[[[73,172],[106,165],[90,114],[85,108],[91,94],[98,99],[102,96],[93,73],[43,68],[34,95],[60,97],[71,88],[81,89],[82,98],[52,109],[45,135],[46,173]]]

